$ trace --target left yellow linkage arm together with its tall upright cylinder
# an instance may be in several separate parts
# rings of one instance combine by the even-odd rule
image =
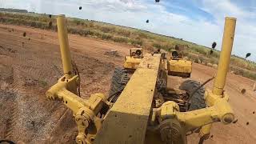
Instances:
[[[78,75],[73,74],[64,15],[58,16],[57,24],[64,76],[58,80],[57,84],[46,91],[46,97],[51,100],[62,101],[73,111],[75,122],[78,125],[76,142],[92,143],[95,134],[102,125],[102,119],[96,117],[96,115],[106,104],[107,98],[103,94],[92,94],[87,100],[78,97],[77,88],[80,79]]]

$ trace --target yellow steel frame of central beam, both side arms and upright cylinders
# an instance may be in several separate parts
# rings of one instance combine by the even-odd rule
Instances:
[[[158,119],[160,122],[169,120],[170,126],[177,127],[182,135],[174,142],[186,143],[186,133],[201,127],[202,136],[210,134],[211,123],[222,122],[229,124],[234,120],[234,112],[230,107],[228,95],[223,88],[230,62],[235,19],[226,18],[222,43],[222,52],[218,73],[214,82],[214,90],[206,90],[205,99],[209,107],[190,112],[179,112],[178,104],[165,102],[160,108],[152,110],[152,100],[156,94],[155,85],[162,67],[161,54],[148,54],[143,58],[138,70],[130,78],[117,102],[106,114],[102,125],[102,119],[96,117],[104,104],[107,104],[103,94],[92,94],[88,100],[84,100],[76,94],[80,82],[78,75],[72,73],[70,62],[70,50],[67,46],[66,22],[63,15],[58,16],[58,34],[62,51],[62,63],[64,76],[58,83],[47,90],[46,97],[52,100],[61,100],[67,107],[73,110],[75,121],[78,125],[78,143],[144,143],[146,128],[151,121]],[[224,62],[226,61],[226,62]],[[152,122],[150,122],[152,123]],[[96,138],[95,138],[96,135]],[[95,141],[94,141],[95,138]]]

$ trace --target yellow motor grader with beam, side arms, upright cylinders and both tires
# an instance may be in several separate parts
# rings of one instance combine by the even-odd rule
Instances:
[[[234,122],[234,112],[223,90],[234,41],[235,18],[226,18],[218,72],[212,89],[191,80],[170,93],[162,54],[144,54],[142,62],[127,78],[122,68],[114,70],[110,95],[79,97],[80,79],[74,69],[66,30],[66,19],[59,15],[58,38],[64,75],[46,91],[73,111],[78,126],[77,143],[95,144],[186,144],[186,136],[199,133],[200,142],[209,138],[214,122]],[[185,93],[184,93],[185,91]]]

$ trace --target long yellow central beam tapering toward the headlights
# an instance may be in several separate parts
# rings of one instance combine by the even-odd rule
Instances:
[[[146,54],[117,102],[110,109],[94,143],[144,143],[161,54]]]

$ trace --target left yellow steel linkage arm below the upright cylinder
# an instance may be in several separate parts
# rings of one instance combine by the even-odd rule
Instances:
[[[92,94],[89,99],[82,99],[74,94],[69,87],[74,87],[75,75],[70,81],[62,81],[62,77],[57,84],[50,87],[46,92],[46,97],[51,100],[62,101],[70,110],[73,111],[75,122],[78,125],[78,143],[92,143],[94,136],[101,127],[102,119],[97,115],[102,110],[102,106],[106,105],[106,96],[104,94]],[[87,131],[87,133],[86,133]]]

